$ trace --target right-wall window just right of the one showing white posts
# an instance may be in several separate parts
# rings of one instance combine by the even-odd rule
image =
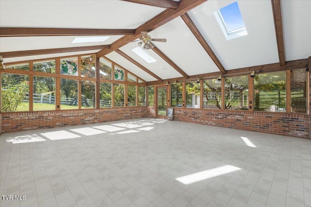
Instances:
[[[203,109],[222,108],[222,81],[209,79],[203,81]]]

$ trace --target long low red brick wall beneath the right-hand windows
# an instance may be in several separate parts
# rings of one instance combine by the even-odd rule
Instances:
[[[311,139],[307,115],[174,108],[174,120]]]

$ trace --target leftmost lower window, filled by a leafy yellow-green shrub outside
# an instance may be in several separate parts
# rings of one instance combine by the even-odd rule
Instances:
[[[1,112],[29,111],[29,76],[1,74]]]

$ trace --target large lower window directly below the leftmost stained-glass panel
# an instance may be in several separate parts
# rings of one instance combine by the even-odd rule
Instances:
[[[78,109],[78,80],[60,80],[61,110]]]

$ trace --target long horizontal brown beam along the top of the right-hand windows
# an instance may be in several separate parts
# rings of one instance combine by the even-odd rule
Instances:
[[[260,71],[260,73],[269,73],[269,72],[277,72],[277,71],[284,71],[284,70],[295,70],[295,69],[301,69],[308,67],[308,59],[301,59],[301,60],[295,60],[295,61],[288,61],[285,63],[284,66],[280,66],[279,63],[274,64],[263,64],[263,65],[257,65],[257,66],[251,66],[251,67],[243,67],[243,68],[237,68],[233,70],[227,70],[227,73],[225,74],[225,77],[232,77],[235,75],[238,75],[239,73],[251,73],[252,71]],[[198,78],[217,78],[221,72],[212,72],[212,73],[205,73],[205,74],[198,74],[189,76],[189,79],[185,78],[175,78],[175,79],[165,79],[163,81],[150,81],[147,82],[147,85],[157,85],[162,84],[163,82],[174,82],[176,81],[190,81],[190,80],[197,80]]]

